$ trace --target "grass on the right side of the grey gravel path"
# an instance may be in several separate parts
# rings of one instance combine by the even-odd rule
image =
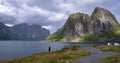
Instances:
[[[98,46],[102,51],[112,51],[120,53],[120,46]],[[120,63],[120,54],[107,57],[102,63]]]

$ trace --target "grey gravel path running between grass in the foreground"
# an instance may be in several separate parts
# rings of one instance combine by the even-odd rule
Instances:
[[[100,49],[90,47],[84,49],[89,51],[90,55],[80,58],[80,60],[78,60],[78,63],[102,63],[102,60],[106,57],[119,54],[116,52],[102,52]]]

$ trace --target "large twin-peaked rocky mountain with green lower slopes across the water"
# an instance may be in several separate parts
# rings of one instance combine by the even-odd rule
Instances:
[[[73,13],[62,28],[46,41],[106,41],[120,37],[120,24],[107,9],[96,7],[92,15]]]

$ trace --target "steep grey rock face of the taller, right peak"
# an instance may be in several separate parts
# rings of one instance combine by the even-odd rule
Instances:
[[[95,35],[101,35],[115,28],[116,24],[118,24],[118,22],[111,12],[96,7],[91,16],[89,32]]]

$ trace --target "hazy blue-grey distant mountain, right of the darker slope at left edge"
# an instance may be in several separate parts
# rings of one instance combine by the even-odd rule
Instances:
[[[40,25],[18,24],[11,27],[11,32],[18,36],[18,40],[43,40],[50,32]]]

